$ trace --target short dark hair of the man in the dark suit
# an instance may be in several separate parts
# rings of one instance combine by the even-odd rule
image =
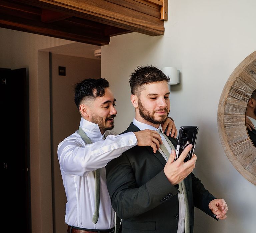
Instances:
[[[154,66],[138,66],[130,75],[130,87],[132,95],[140,95],[142,85],[160,81],[169,82],[169,77]]]

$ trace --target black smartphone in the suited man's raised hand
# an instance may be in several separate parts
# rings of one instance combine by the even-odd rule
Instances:
[[[196,147],[196,138],[198,133],[198,126],[182,126],[180,127],[179,137],[178,137],[178,144],[176,148],[176,156],[174,161],[176,161],[182,151],[188,146],[192,144],[193,147],[189,151],[188,155],[185,157],[184,162],[187,162],[189,159],[192,158],[194,154],[194,149]]]

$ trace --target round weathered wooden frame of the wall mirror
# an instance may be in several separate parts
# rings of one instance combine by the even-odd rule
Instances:
[[[256,51],[245,58],[227,80],[218,106],[218,130],[233,166],[256,185],[256,147],[248,136],[245,112],[256,89]]]

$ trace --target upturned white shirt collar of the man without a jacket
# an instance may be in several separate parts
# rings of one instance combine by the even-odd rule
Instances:
[[[84,119],[83,117],[81,117],[80,127],[84,130],[86,135],[90,138],[91,142],[102,140],[105,137],[106,131],[102,135],[98,124],[90,122]]]

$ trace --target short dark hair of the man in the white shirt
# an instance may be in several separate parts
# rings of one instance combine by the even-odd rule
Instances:
[[[75,85],[75,104],[79,109],[81,101],[85,98],[96,98],[105,95],[105,88],[109,87],[109,82],[104,79],[85,79]],[[96,91],[96,92],[95,92]]]

